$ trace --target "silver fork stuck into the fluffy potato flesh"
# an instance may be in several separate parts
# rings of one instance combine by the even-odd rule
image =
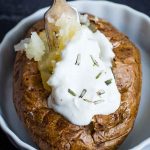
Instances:
[[[77,11],[72,8],[66,0],[53,1],[52,7],[45,13],[45,30],[50,50],[58,48],[58,27],[55,26],[55,21],[58,20],[62,14],[66,17],[78,19]]]

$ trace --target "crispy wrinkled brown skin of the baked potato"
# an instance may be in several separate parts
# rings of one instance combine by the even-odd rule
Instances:
[[[121,93],[119,109],[110,115],[96,115],[87,126],[71,124],[47,107],[50,94],[43,88],[37,63],[17,52],[13,74],[13,99],[18,115],[41,150],[117,149],[131,131],[141,95],[139,50],[110,23],[89,15],[90,21],[115,45],[113,73]],[[28,31],[40,32],[44,21]],[[119,44],[117,45],[117,43]]]

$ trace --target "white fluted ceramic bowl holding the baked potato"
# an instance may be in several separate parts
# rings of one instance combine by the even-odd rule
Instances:
[[[111,22],[125,33],[140,48],[143,64],[143,87],[139,113],[135,126],[121,146],[127,150],[150,137],[150,18],[124,5],[107,1],[74,1],[70,4],[80,12],[88,12]],[[0,126],[20,149],[33,150],[36,145],[16,114],[12,100],[12,70],[15,58],[13,50],[25,31],[37,20],[43,18],[47,8],[23,19],[7,33],[0,45]],[[150,149],[150,139],[142,142],[134,150]],[[149,148],[148,148],[149,147]]]

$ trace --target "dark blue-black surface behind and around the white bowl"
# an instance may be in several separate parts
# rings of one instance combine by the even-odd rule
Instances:
[[[150,0],[110,0],[128,5],[150,16]],[[49,6],[52,0],[0,0],[0,42],[4,35],[22,18]],[[15,150],[0,129],[0,150]]]

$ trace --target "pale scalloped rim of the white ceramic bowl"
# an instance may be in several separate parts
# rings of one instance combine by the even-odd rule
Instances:
[[[72,1],[72,2],[69,2],[70,4],[74,4],[74,3],[79,3],[80,4],[84,4],[84,3],[101,3],[101,4],[106,4],[106,5],[109,5],[109,6],[114,6],[114,7],[117,7],[117,8],[122,8],[122,9],[125,9],[127,11],[129,11],[130,13],[138,16],[138,17],[141,17],[141,18],[144,18],[147,22],[149,22],[150,24],[150,17],[142,12],[139,12],[129,6],[126,6],[126,5],[123,5],[123,4],[118,4],[118,3],[115,3],[115,2],[109,2],[109,1],[96,1],[96,0],[83,0],[83,1]],[[31,15],[25,17],[24,19],[22,19],[19,23],[17,23],[17,25],[15,25],[15,27],[13,27],[11,30],[9,30],[6,35],[4,36],[2,42],[0,43],[0,53],[2,52],[2,49],[6,43],[6,41],[18,30],[18,28],[21,28],[21,26],[26,23],[27,21],[29,20],[32,20],[32,18],[37,14],[37,13],[43,13],[45,12],[49,7],[45,7],[45,8],[41,8],[39,10],[37,10],[36,12],[32,13]],[[30,150],[36,150],[35,148],[33,148],[31,145],[25,143],[23,140],[21,140],[7,125],[7,122],[5,121],[5,119],[2,117],[2,111],[1,111],[1,108],[0,108],[0,127],[1,129],[6,133],[6,135],[15,143],[15,146],[16,147],[20,147],[20,148],[23,148],[23,149],[30,149]],[[135,146],[133,148],[133,150],[137,150],[139,147],[141,147],[142,145],[142,148],[145,146],[145,145],[150,145],[150,139],[147,139],[143,142],[141,142],[138,146]]]

